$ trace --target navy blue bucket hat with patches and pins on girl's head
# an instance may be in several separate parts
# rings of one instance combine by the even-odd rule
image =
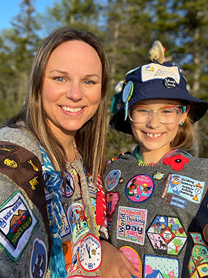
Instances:
[[[118,131],[130,134],[132,131],[130,122],[127,120],[128,108],[138,101],[145,99],[188,101],[191,103],[191,120],[193,122],[200,120],[208,109],[207,101],[202,101],[189,94],[187,82],[180,74],[180,68],[168,62],[145,64],[125,74],[125,81],[120,82],[117,86],[117,94],[114,95],[114,99],[119,99],[121,106],[119,111],[115,111],[116,103],[112,104],[111,109],[114,115],[110,125]]]

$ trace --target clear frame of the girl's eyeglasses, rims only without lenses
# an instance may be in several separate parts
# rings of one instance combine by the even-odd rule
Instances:
[[[144,124],[145,122],[136,122],[136,121],[132,120],[132,118],[131,118],[131,116],[130,116],[130,109],[131,109],[131,108],[134,108],[134,107],[144,107],[144,108],[147,108],[147,109],[150,111],[150,115],[149,115],[149,117],[148,117],[148,120],[146,120],[145,122],[148,122],[148,121],[151,119],[151,117],[153,116],[153,113],[155,113],[155,114],[157,115],[157,119],[158,119],[159,122],[161,122],[162,124],[175,124],[175,122],[163,122],[162,120],[160,120],[160,119],[159,119],[159,116],[158,116],[158,114],[157,114],[157,111],[159,111],[160,109],[162,109],[162,108],[174,108],[174,107],[180,108],[180,110],[182,111],[182,114],[181,114],[181,116],[180,116],[180,119],[181,119],[183,113],[186,112],[186,110],[187,110],[187,106],[183,106],[183,105],[168,105],[168,106],[163,106],[163,107],[161,107],[161,108],[159,108],[159,109],[157,109],[157,110],[155,110],[155,111],[153,111],[151,108],[148,108],[147,106],[143,106],[143,105],[133,105],[132,107],[130,107],[130,108],[128,109],[128,117],[129,117],[129,119],[130,119],[131,122],[135,122],[135,123],[137,123],[137,124]],[[180,119],[178,119],[176,122],[179,122]]]

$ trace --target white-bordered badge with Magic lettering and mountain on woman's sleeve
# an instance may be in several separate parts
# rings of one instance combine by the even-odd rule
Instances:
[[[26,199],[16,191],[0,207],[0,247],[17,261],[37,224]]]

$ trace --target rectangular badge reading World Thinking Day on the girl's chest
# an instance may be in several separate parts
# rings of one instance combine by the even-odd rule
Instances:
[[[119,206],[116,238],[144,245],[147,211]]]

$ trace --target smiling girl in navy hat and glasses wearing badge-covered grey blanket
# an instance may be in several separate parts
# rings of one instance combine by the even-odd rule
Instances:
[[[208,275],[208,160],[187,152],[208,103],[186,87],[171,63],[138,67],[116,86],[110,124],[139,145],[108,167],[107,217],[112,245],[138,277]]]

